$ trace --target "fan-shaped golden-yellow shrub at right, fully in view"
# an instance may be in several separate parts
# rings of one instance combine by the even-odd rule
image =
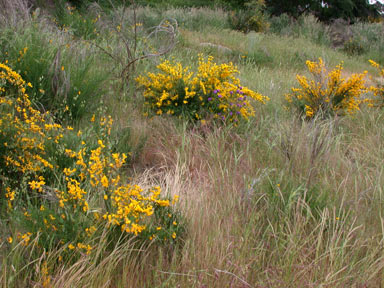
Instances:
[[[351,114],[360,109],[361,95],[366,91],[364,77],[367,72],[353,74],[344,79],[341,76],[343,63],[328,72],[321,58],[318,62],[306,62],[313,79],[297,75],[300,87],[292,88],[286,100],[307,119],[317,114],[322,116]]]

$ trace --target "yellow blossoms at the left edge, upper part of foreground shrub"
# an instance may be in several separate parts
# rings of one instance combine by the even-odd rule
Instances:
[[[26,94],[26,88],[32,85],[1,63],[0,81],[0,135],[6,139],[0,163],[6,174],[36,174],[53,169],[45,147],[47,142],[58,143],[66,129],[50,123],[49,113],[33,108]],[[41,191],[44,178],[36,180],[31,182],[31,188]]]

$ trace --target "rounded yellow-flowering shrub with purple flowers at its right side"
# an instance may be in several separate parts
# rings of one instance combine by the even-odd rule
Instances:
[[[184,116],[194,120],[217,118],[238,122],[254,116],[252,101],[265,103],[268,97],[242,87],[232,64],[216,64],[213,57],[199,56],[196,72],[180,63],[164,61],[158,73],[147,73],[136,81],[144,87],[145,104],[158,115]]]

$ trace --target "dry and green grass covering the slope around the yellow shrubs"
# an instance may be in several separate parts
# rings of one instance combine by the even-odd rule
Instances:
[[[4,26],[0,60],[8,59],[32,83],[36,103],[54,111],[63,108],[56,101],[61,94],[52,92],[50,69],[56,65],[62,73],[64,66],[67,99],[84,103],[67,103],[74,109],[67,120],[85,131],[84,139],[95,142],[86,132],[93,129],[88,118],[111,114],[116,124],[112,149],[132,152],[124,167],[127,179],[144,188],[160,185],[164,195],[180,195],[177,208],[186,233],[179,246],[138,245],[133,237],[112,249],[103,234],[94,254],[62,263],[56,247],[38,255],[37,247],[8,243],[6,238],[18,227],[8,225],[2,213],[0,287],[42,287],[47,276],[50,287],[384,285],[383,111],[363,107],[352,116],[302,122],[284,109],[284,94],[297,85],[296,74],[307,73],[306,60],[322,57],[328,67],[344,61],[346,75],[364,70],[372,75],[367,59],[378,53],[376,44],[367,54],[350,57],[328,46],[313,19],[302,20],[312,21],[305,31],[296,26],[290,27],[297,29],[294,33],[277,27],[275,34],[243,34],[228,28],[226,12],[220,9],[140,7],[143,29],[166,17],[179,23],[178,43],[163,59],[196,67],[198,54],[205,53],[219,63],[232,61],[245,86],[271,99],[256,105],[256,116],[237,127],[192,125],[167,116],[144,117],[142,91],[136,91],[134,81],[116,77],[122,67],[92,45],[110,45],[108,51],[127,59],[108,22],[113,11],[102,15],[96,35],[80,24],[79,15],[65,16],[66,26],[74,27],[68,31],[44,15],[19,28]],[[376,24],[356,25],[359,31],[377,29]],[[367,35],[371,39],[374,33]],[[231,52],[202,47],[202,42]],[[17,61],[24,47],[29,49]],[[138,55],[145,48],[139,45]],[[131,80],[154,71],[160,61],[137,62]],[[81,100],[74,99],[78,90]],[[72,145],[74,140],[66,141]],[[44,265],[49,267],[45,276]]]

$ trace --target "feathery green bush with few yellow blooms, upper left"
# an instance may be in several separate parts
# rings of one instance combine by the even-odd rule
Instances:
[[[96,59],[101,58],[94,49],[80,51],[64,35],[57,37],[37,22],[4,29],[0,32],[4,52],[0,61],[7,61],[33,84],[29,96],[42,111],[50,111],[59,120],[78,120],[99,104],[106,76],[95,67]]]

